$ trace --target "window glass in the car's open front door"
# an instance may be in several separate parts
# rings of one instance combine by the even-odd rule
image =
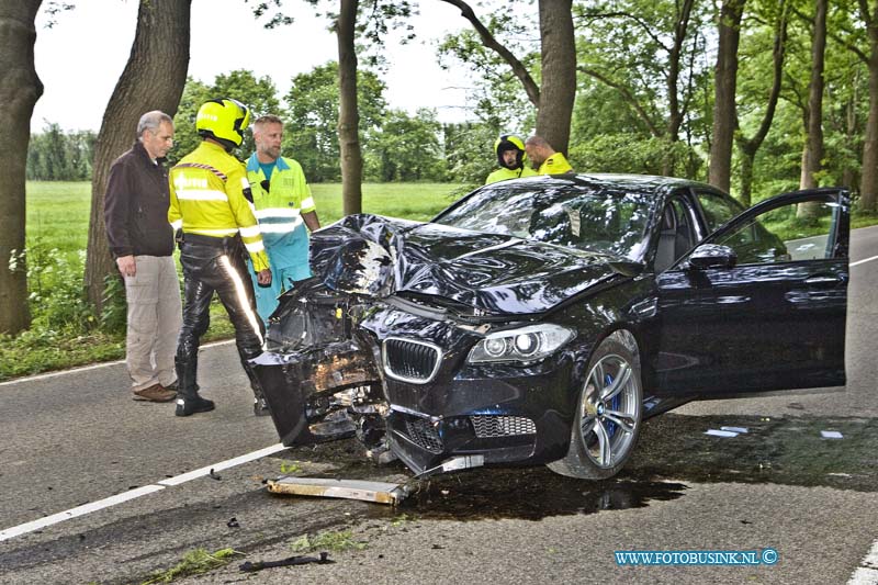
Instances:
[[[716,244],[732,248],[739,265],[832,258],[836,209],[822,201],[775,207],[738,226]]]

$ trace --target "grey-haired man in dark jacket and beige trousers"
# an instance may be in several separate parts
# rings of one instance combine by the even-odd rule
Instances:
[[[145,113],[137,123],[137,140],[113,162],[106,181],[104,221],[110,250],[125,279],[125,362],[136,401],[170,402],[177,394],[173,356],[182,308],[164,166],[171,146],[171,117]]]

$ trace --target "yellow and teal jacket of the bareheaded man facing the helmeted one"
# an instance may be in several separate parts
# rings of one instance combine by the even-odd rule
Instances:
[[[308,234],[302,214],[316,209],[302,166],[292,158],[279,158],[266,190],[266,175],[254,153],[247,160],[247,178],[271,266],[307,266]]]

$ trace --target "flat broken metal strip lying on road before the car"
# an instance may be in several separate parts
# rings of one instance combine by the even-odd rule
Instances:
[[[278,477],[269,480],[268,491],[296,496],[361,499],[391,506],[395,506],[408,496],[408,488],[404,484],[331,477]]]

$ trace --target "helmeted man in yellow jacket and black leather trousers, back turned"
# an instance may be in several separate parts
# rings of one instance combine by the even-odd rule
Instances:
[[[249,360],[262,353],[264,329],[256,314],[254,290],[247,273],[249,255],[258,283],[271,283],[268,257],[254,212],[244,165],[229,153],[240,146],[250,111],[223,98],[205,102],[195,119],[202,143],[171,169],[168,221],[180,233],[180,263],[184,275],[183,326],[175,365],[179,383],[177,416],[214,409],[199,396],[198,353],[210,324],[214,291],[235,327],[241,364],[260,407],[262,394]]]

